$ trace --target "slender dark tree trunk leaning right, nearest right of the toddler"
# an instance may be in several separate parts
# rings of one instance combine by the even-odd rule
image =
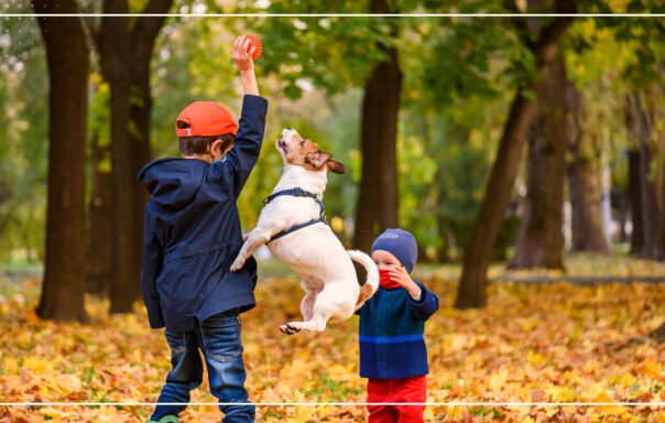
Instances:
[[[570,6],[571,8],[566,12],[575,13],[577,3],[573,2]],[[555,10],[559,12],[565,9],[556,8]],[[573,21],[571,17],[556,17],[541,32],[538,42],[531,46],[536,57],[537,69],[543,69],[554,59],[560,39]],[[537,93],[538,82],[531,80],[527,89]],[[484,199],[473,224],[471,240],[465,251],[462,275],[455,303],[458,308],[482,307],[486,304],[487,269],[515,182],[522,148],[536,108],[536,102],[524,97],[522,90],[516,93],[503,128],[503,135],[490,173]]]

